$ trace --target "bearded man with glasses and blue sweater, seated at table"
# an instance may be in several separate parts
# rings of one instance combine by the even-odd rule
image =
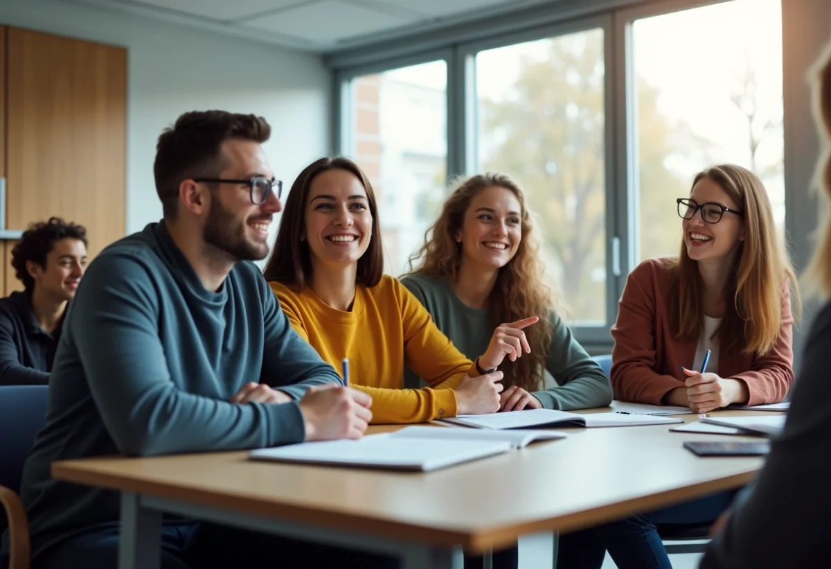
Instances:
[[[116,567],[117,493],[53,480],[53,461],[360,438],[366,429],[371,398],[343,387],[297,337],[249,262],[268,254],[281,209],[261,146],[269,131],[256,116],[194,111],[160,136],[164,219],[104,250],[67,314],[47,424],[22,477],[32,567]],[[162,544],[165,569],[397,567],[207,522],[165,520]]]

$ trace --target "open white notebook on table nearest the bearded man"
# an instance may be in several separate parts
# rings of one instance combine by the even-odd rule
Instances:
[[[440,427],[406,427],[356,441],[321,441],[260,448],[251,458],[285,463],[316,463],[428,472],[477,458],[508,453],[533,441],[564,438],[551,431],[485,432]]]

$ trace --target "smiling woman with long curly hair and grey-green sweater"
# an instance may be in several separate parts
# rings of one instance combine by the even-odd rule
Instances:
[[[529,349],[499,367],[500,410],[612,402],[609,380],[556,311],[524,193],[509,176],[487,172],[458,181],[410,265],[401,283],[469,358],[482,353],[500,322],[538,317],[524,329]],[[494,552],[493,567],[517,567],[517,559],[516,547]],[[465,567],[483,567],[483,560],[466,557]]]

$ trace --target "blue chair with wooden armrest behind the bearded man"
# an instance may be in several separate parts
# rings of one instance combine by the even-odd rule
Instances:
[[[0,504],[5,512],[0,512],[0,534],[9,528],[9,569],[29,567],[29,525],[17,492],[23,463],[46,415],[46,385],[0,386]]]

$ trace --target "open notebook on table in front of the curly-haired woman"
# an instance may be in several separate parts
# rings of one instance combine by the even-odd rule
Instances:
[[[637,425],[661,425],[683,423],[680,418],[657,417],[624,413],[567,413],[554,409],[526,409],[506,413],[483,415],[459,415],[441,419],[461,427],[503,428],[556,428],[556,427],[635,427]]]

